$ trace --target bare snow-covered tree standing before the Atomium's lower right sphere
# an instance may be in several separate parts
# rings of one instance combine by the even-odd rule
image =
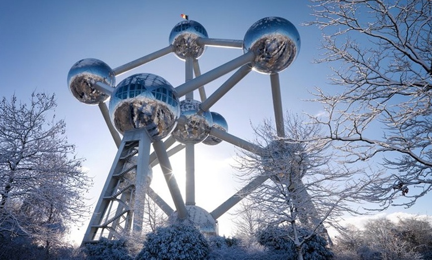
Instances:
[[[308,124],[302,117],[287,114],[285,132],[277,135],[273,124],[265,121],[255,128],[259,154],[239,154],[239,177],[253,180],[267,176],[269,180],[254,190],[248,207],[262,212],[263,225],[289,227],[286,233],[302,259],[303,246],[315,234],[331,243],[324,223],[337,227],[338,218],[358,213],[351,202],[361,202],[362,172],[333,162],[328,143],[320,138],[320,126]],[[308,233],[299,230],[307,230]],[[288,229],[287,229],[288,230]]]

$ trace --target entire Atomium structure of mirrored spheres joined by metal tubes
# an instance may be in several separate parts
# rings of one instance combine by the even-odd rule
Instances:
[[[200,42],[200,39],[203,40]],[[271,74],[272,91],[276,90],[273,95],[275,118],[280,119],[283,112],[282,101],[280,96],[277,97],[280,92],[277,77],[298,55],[300,38],[295,27],[284,18],[266,17],[249,28],[243,41],[224,40],[208,38],[206,29],[200,23],[186,20],[176,24],[171,30],[169,44],[167,48],[114,70],[99,60],[85,59],[73,65],[69,72],[68,86],[72,95],[85,104],[99,105],[118,147],[104,190],[84,235],[83,244],[94,243],[98,240],[97,236],[99,239],[104,235],[107,235],[108,239],[117,239],[131,231],[141,232],[144,216],[141,195],[144,193],[169,216],[170,223],[194,225],[205,234],[216,235],[216,219],[238,203],[245,194],[268,180],[268,177],[256,178],[211,213],[195,206],[194,149],[200,142],[215,145],[223,140],[256,153],[261,156],[263,170],[274,173],[269,176],[273,181],[282,182],[288,180],[288,177],[295,177],[301,184],[301,177],[307,170],[304,167],[307,164],[304,164],[303,160],[307,160],[307,156],[300,144],[275,141],[266,148],[260,148],[229,134],[226,120],[218,113],[209,111],[229,90],[228,87],[232,87],[230,84],[238,82],[236,80],[241,79],[240,75],[245,76],[252,66],[258,72]],[[236,58],[234,63],[227,62],[197,75],[201,74],[196,68],[199,68],[197,59],[203,55],[207,45],[242,49],[244,54],[238,57],[239,59]],[[158,75],[138,73],[126,77],[115,87],[116,74],[120,75],[170,52],[186,61],[186,86],[182,84],[174,88]],[[205,93],[202,95],[205,84],[236,68],[239,68],[237,72],[240,72],[234,73],[235,77],[230,77],[232,80],[228,79],[208,100]],[[196,78],[193,78],[194,73]],[[113,90],[96,83],[108,85]],[[193,91],[196,89],[200,91],[201,102],[193,99]],[[179,101],[179,95],[186,95],[185,99]],[[102,103],[108,98],[109,110]],[[279,121],[278,123],[281,123]],[[283,122],[277,124],[276,128],[279,137],[284,137],[280,134],[283,133]],[[121,140],[119,132],[123,134]],[[181,144],[170,148],[176,141]],[[153,152],[150,152],[151,146]],[[169,161],[171,155],[183,148],[186,159],[186,202]],[[157,164],[160,165],[175,210],[149,187],[152,179],[151,167]]]

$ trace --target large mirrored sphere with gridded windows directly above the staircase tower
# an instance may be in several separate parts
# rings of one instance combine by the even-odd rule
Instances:
[[[122,80],[111,95],[110,116],[122,134],[145,129],[152,140],[167,136],[180,116],[177,93],[168,81],[150,73]]]

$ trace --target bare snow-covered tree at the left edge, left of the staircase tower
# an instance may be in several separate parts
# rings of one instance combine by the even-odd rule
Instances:
[[[28,105],[15,96],[0,103],[0,233],[29,236],[47,254],[87,212],[90,183],[55,107],[54,95],[43,93]]]

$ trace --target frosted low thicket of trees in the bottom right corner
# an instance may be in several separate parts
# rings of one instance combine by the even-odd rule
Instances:
[[[362,229],[346,229],[335,242],[335,252],[341,259],[430,259],[432,225],[417,218],[396,223],[386,218],[371,219]]]

